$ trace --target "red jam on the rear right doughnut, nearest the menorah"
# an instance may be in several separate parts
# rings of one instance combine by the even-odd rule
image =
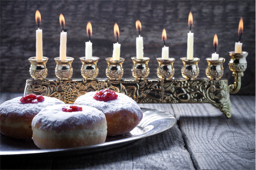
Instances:
[[[97,92],[93,98],[99,101],[110,101],[117,99],[117,94],[115,91],[110,89],[100,90]]]

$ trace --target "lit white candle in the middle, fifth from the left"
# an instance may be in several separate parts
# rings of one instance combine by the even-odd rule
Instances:
[[[141,23],[139,20],[135,23],[137,31],[139,31],[139,36],[136,37],[136,58],[137,59],[143,59],[143,37],[140,36],[141,31]]]

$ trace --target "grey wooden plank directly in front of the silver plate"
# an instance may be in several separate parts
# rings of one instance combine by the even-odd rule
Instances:
[[[53,158],[52,169],[194,169],[178,129],[90,155]]]

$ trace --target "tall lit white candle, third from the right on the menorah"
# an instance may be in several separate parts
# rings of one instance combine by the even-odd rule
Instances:
[[[190,26],[190,30],[188,33],[188,41],[187,41],[187,59],[193,60],[194,55],[194,33],[191,32],[191,27],[193,25],[193,16],[192,13],[189,13],[188,25]]]

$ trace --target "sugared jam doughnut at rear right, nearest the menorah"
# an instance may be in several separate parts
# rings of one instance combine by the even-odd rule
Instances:
[[[109,89],[87,92],[79,96],[74,104],[101,110],[107,119],[108,136],[126,134],[142,119],[142,111],[132,98]]]

